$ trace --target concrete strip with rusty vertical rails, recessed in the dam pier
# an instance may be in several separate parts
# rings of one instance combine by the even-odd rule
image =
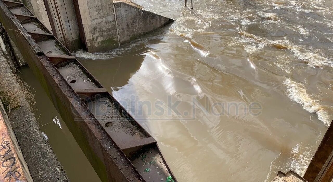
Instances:
[[[70,51],[81,49],[82,42],[73,0],[45,0],[45,7],[52,33]]]

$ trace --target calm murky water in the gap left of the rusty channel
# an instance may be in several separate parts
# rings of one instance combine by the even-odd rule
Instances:
[[[18,75],[35,89],[32,90],[35,98],[34,112],[40,130],[48,138],[70,181],[101,181],[32,70],[28,66],[21,67]]]

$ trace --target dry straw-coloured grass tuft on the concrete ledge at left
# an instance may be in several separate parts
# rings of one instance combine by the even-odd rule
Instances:
[[[19,107],[30,108],[29,104],[33,103],[30,88],[11,72],[6,58],[0,51],[0,99],[6,111],[9,112]]]

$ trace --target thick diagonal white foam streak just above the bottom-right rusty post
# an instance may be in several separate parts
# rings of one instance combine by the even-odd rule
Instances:
[[[310,98],[302,84],[296,83],[289,78],[283,84],[287,86],[287,94],[293,101],[301,104],[306,111],[316,114],[320,121],[329,126],[331,123],[329,114],[320,104]]]

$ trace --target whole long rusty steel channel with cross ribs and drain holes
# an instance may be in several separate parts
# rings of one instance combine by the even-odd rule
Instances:
[[[22,3],[0,0],[0,21],[102,181],[173,177],[156,140]]]

